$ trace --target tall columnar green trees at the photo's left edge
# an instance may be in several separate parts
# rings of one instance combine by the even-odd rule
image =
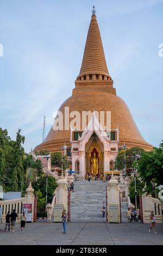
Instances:
[[[18,129],[16,141],[12,141],[8,136],[7,130],[0,129],[0,176],[1,181],[10,182],[2,183],[4,191],[18,191],[24,189],[23,181],[26,179],[24,170],[24,136]]]

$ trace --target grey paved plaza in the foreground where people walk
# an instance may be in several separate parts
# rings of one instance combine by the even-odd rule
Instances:
[[[148,233],[149,224],[143,223],[93,223],[69,222],[67,234],[62,234],[61,223],[27,223],[20,231],[16,224],[15,232],[5,233],[0,224],[0,245],[163,245],[163,224]]]

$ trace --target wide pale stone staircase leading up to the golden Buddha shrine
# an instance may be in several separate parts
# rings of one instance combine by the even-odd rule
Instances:
[[[106,203],[106,184],[101,180],[74,182],[74,192],[71,192],[70,200],[71,222],[106,221],[106,212],[104,219],[102,214],[103,202]]]

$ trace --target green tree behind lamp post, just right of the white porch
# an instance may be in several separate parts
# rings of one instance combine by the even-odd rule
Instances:
[[[135,157],[141,158],[144,150],[138,147],[130,148],[126,150],[126,168],[134,167]],[[124,169],[124,150],[118,151],[116,160],[115,160],[115,169],[122,170]]]

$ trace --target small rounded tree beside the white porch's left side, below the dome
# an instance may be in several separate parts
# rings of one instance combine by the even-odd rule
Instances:
[[[55,152],[51,154],[51,164],[52,166],[59,166],[61,168],[62,166],[62,153]],[[63,169],[65,170],[68,168],[70,162],[67,159],[67,156],[63,154]]]

